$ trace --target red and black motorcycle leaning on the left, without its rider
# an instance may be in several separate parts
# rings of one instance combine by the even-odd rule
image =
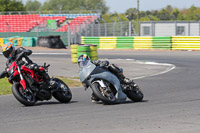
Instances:
[[[0,79],[8,77],[8,81],[12,84],[12,93],[21,104],[33,106],[37,101],[50,100],[52,96],[61,103],[70,102],[71,90],[62,80],[51,78],[55,81],[55,86],[50,89],[44,77],[24,65],[18,65],[18,60],[19,58],[1,72]],[[40,69],[48,72],[49,66],[44,63]]]

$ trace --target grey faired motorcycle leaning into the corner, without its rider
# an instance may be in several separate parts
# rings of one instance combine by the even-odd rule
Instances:
[[[127,97],[134,102],[142,101],[144,95],[136,83],[123,83],[104,65],[96,66],[91,60],[86,60],[81,61],[79,67],[79,78],[85,90],[90,87],[93,95],[104,104],[122,103]]]

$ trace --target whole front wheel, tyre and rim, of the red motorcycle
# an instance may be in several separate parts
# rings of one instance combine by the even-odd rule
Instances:
[[[24,90],[19,83],[12,85],[12,93],[14,97],[25,106],[33,106],[36,102],[34,94],[29,90]]]

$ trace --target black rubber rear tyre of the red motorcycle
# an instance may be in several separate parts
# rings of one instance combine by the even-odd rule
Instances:
[[[56,82],[60,82],[61,84],[64,84],[67,88],[68,88],[68,96],[66,97],[64,94],[63,94],[63,91],[55,91],[54,93],[53,93],[53,97],[56,99],[56,100],[58,100],[59,102],[61,102],[61,103],[68,103],[68,102],[70,102],[71,101],[71,99],[72,99],[72,92],[71,92],[71,90],[69,89],[69,87],[62,81],[62,80],[60,80],[60,79],[58,79],[58,78],[54,78],[54,80],[56,81]]]

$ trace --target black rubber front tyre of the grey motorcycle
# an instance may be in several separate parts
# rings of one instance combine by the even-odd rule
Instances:
[[[99,88],[98,88],[98,85],[99,85],[98,83],[93,83],[93,84],[92,84],[91,89],[92,89],[94,95],[95,95],[98,99],[100,99],[103,103],[105,103],[105,104],[109,104],[109,105],[115,104],[115,103],[116,103],[116,99],[115,99],[114,101],[111,101],[111,100],[109,100],[108,98],[104,97],[104,96],[101,94],[101,92],[100,92],[100,90],[99,90]]]

